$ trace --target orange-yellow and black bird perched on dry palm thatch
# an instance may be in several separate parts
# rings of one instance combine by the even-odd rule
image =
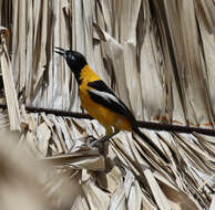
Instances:
[[[90,67],[85,56],[78,51],[55,49],[54,52],[64,57],[74,74],[81,106],[105,128],[106,135],[96,143],[110,139],[121,130],[132,132],[145,140],[165,162],[170,162],[163,151],[140,130],[133,113]]]

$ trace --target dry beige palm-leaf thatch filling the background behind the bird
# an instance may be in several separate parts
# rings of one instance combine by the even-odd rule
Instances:
[[[27,185],[22,192],[33,191],[33,175],[44,196],[32,192],[30,209],[215,209],[215,137],[142,129],[170,159],[166,165],[142,139],[122,132],[104,157],[84,144],[89,135],[104,135],[96,120],[25,109],[82,112],[74,77],[53,53],[61,46],[83,53],[137,119],[213,129],[213,0],[0,0],[0,103],[8,106],[0,111],[2,199],[20,209],[9,189],[14,183],[16,192],[17,178]],[[17,130],[13,146],[7,145],[9,129]],[[22,147],[27,154],[13,157],[10,150]],[[42,166],[32,167],[37,160],[29,156]],[[50,166],[52,172],[40,174]],[[61,178],[53,178],[57,171]],[[75,196],[68,199],[70,193]]]

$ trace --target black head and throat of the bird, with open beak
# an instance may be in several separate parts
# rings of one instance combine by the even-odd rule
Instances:
[[[55,49],[58,49],[59,51],[54,52],[59,53],[65,59],[68,65],[70,66],[70,70],[74,73],[76,81],[80,82],[80,72],[88,64],[85,57],[76,51],[64,50],[61,48]]]

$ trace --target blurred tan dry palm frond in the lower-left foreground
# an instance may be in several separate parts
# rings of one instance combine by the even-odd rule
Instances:
[[[57,172],[51,164],[39,162],[19,146],[19,136],[8,126],[0,128],[1,209],[58,210],[71,207],[82,191],[76,177]]]

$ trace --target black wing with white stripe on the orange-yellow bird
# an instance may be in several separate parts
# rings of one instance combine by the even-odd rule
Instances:
[[[89,95],[91,99],[95,103],[102,104],[104,107],[125,116],[131,120],[135,120],[131,111],[126,105],[113,93],[113,91],[103,82],[94,81],[88,83],[88,86],[92,87],[89,90]]]

